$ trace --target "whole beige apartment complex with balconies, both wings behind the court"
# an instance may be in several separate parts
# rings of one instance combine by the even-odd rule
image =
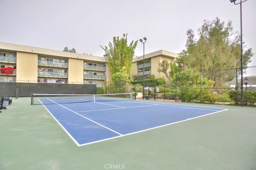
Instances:
[[[174,62],[177,54],[158,50],[145,55],[145,75],[156,78],[165,75],[158,72],[158,63]],[[101,84],[111,81],[106,58],[85,54],[62,52],[52,49],[0,43],[0,65],[11,66],[14,74],[0,74],[0,82],[74,83]],[[131,70],[133,75],[143,75],[143,56],[135,57]]]

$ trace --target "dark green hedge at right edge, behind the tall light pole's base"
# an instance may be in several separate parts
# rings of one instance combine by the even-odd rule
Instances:
[[[229,92],[231,100],[236,103],[237,95],[236,90]],[[241,105],[241,90],[238,90],[238,105]],[[256,91],[244,91],[244,106],[255,106],[256,105]]]

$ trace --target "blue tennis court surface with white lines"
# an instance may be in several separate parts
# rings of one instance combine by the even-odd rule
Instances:
[[[61,103],[39,99],[77,146],[138,133],[191,118],[225,111],[145,101]],[[60,104],[61,103],[61,104]]]

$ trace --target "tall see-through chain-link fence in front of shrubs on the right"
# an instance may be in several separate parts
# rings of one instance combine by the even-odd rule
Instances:
[[[243,80],[239,68],[183,72],[174,75],[171,82],[157,83],[145,80],[144,86],[142,82],[101,83],[97,84],[97,93],[136,92],[137,98],[148,100],[241,105],[241,83],[243,83],[243,104],[256,106],[256,66],[245,69]],[[246,82],[245,78],[249,80]]]

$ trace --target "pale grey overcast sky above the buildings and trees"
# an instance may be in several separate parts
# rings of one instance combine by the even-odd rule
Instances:
[[[237,0],[239,1],[239,0]],[[145,53],[164,49],[179,53],[186,32],[195,32],[203,20],[217,16],[231,20],[240,32],[239,5],[229,0],[0,0],[0,42],[103,56],[114,36],[128,33],[129,40],[147,37]],[[256,65],[256,1],[243,3],[243,40],[253,48],[250,66]],[[135,55],[143,55],[139,42]],[[256,75],[256,70],[250,70]],[[248,74],[247,74],[248,75]]]

